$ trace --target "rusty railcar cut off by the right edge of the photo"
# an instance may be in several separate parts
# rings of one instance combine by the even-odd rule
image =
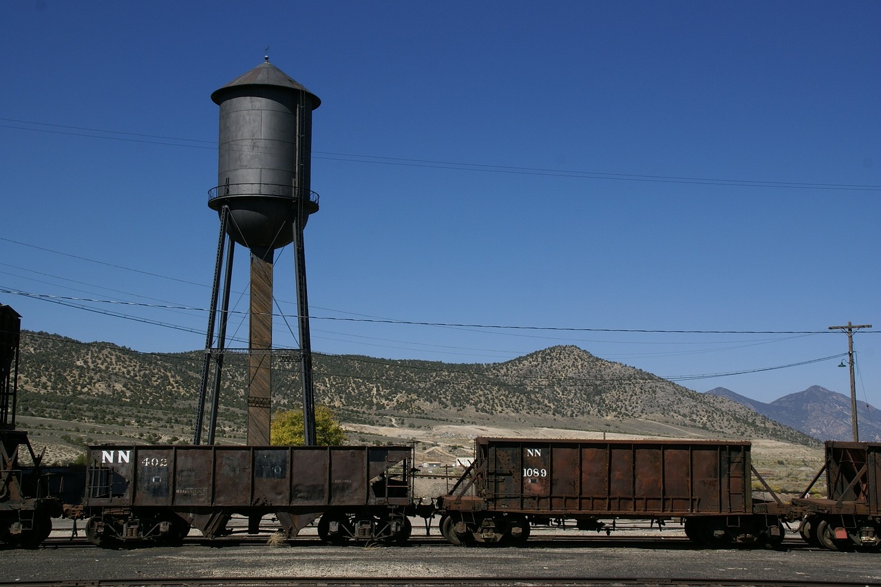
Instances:
[[[825,497],[811,499],[811,488],[825,473]],[[829,550],[863,547],[881,550],[881,442],[825,442],[825,465],[792,500],[802,514],[802,538]]]

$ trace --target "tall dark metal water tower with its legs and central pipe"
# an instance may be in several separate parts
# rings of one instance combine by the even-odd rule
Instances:
[[[305,441],[313,445],[315,405],[303,227],[309,215],[318,211],[318,195],[310,189],[310,167],[312,111],[321,100],[270,63],[268,56],[212,93],[211,100],[220,107],[220,133],[218,184],[209,192],[208,205],[218,212],[220,235],[193,442],[202,442],[208,398],[207,443],[214,442],[220,375],[229,350],[226,317],[233,249],[238,243],[250,251],[248,444],[270,443],[274,257],[277,249],[293,243]],[[222,298],[219,309],[218,298]]]

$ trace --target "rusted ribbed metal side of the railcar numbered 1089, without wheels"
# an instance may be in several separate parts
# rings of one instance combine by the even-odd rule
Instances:
[[[478,438],[476,447],[474,487],[487,509],[549,515],[751,512],[749,442]]]

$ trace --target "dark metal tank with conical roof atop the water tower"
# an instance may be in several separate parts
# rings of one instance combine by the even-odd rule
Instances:
[[[257,256],[293,239],[292,224],[318,211],[310,189],[314,93],[267,59],[211,94],[220,107],[218,187],[208,205],[229,207],[227,232]]]

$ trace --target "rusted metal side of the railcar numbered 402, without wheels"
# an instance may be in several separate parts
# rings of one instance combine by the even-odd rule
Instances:
[[[104,446],[89,460],[86,507],[295,509],[410,499],[407,446]]]

